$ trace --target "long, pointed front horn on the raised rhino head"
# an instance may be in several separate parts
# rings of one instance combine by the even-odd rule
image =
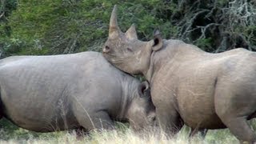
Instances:
[[[120,30],[117,21],[117,5],[114,5],[114,9],[112,10],[110,17],[109,38],[117,38],[119,36],[119,33]]]

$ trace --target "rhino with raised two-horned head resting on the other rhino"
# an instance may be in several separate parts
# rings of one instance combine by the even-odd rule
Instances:
[[[120,70],[146,77],[163,130],[176,133],[183,123],[193,130],[228,127],[240,141],[256,141],[246,122],[256,115],[254,52],[210,54],[158,33],[142,42],[134,25],[123,34],[116,18],[115,6],[103,55]]]

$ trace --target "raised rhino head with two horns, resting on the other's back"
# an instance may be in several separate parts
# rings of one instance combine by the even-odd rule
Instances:
[[[117,6],[110,18],[109,36],[102,48],[104,57],[118,69],[129,74],[143,74],[150,66],[150,55],[162,48],[162,38],[155,34],[149,42],[138,40],[134,24],[126,33],[118,27]]]

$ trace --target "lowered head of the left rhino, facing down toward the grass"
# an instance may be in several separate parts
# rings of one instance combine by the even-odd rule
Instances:
[[[134,131],[145,130],[156,124],[155,107],[151,100],[150,84],[145,81],[138,85],[138,91],[128,106],[126,118]]]

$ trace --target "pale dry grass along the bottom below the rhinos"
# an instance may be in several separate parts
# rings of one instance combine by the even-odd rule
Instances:
[[[58,133],[58,132],[56,132]],[[112,130],[102,132],[92,132],[90,136],[78,141],[75,134],[68,134],[66,132],[61,134],[50,133],[44,134],[42,137],[34,138],[32,135],[30,138],[11,138],[6,141],[1,140],[0,143],[93,143],[93,144],[109,144],[109,143],[146,143],[146,144],[171,144],[171,143],[238,143],[238,140],[230,134],[229,130],[210,130],[206,135],[206,138],[202,138],[199,135],[194,138],[188,138],[188,128],[183,128],[179,134],[173,138],[166,138],[164,134],[157,136],[153,133],[134,134],[132,130]],[[54,136],[53,136],[54,135]]]

